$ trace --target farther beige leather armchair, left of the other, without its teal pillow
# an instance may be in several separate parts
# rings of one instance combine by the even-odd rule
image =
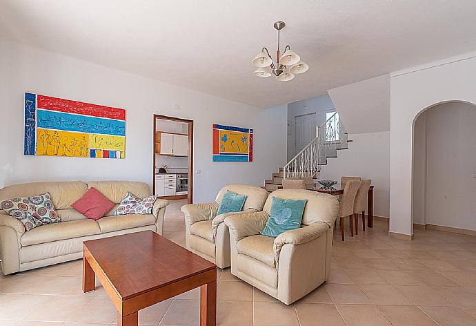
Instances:
[[[242,212],[256,212],[263,209],[268,191],[249,184],[228,184],[221,188],[215,202],[188,204],[181,208],[185,214],[186,245],[188,250],[215,263],[220,268],[230,267],[230,236],[224,224],[227,216],[217,215],[219,202],[226,191],[247,195]],[[242,213],[240,212],[240,213]]]

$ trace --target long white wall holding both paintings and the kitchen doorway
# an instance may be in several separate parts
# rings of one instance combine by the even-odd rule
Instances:
[[[91,49],[95,50],[95,49]],[[140,58],[137,58],[140,59]],[[48,180],[152,183],[152,115],[195,121],[195,202],[213,200],[230,182],[262,185],[286,163],[286,106],[261,110],[0,39],[0,186]],[[126,159],[23,155],[26,91],[125,108]],[[180,111],[173,111],[174,104]],[[254,162],[212,162],[212,124],[254,129]]]

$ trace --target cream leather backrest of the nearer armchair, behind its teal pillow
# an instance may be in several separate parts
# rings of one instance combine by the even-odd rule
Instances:
[[[339,213],[339,200],[333,195],[318,193],[304,189],[279,189],[270,193],[264,204],[264,211],[271,213],[272,197],[283,199],[307,199],[301,224],[310,225],[314,222],[333,223]]]

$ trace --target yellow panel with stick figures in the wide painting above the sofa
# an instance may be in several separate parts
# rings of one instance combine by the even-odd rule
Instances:
[[[37,129],[37,155],[89,157],[88,147],[86,133]]]

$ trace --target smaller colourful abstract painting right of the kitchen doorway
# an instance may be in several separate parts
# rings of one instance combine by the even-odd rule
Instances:
[[[253,130],[213,125],[213,162],[252,162]]]

